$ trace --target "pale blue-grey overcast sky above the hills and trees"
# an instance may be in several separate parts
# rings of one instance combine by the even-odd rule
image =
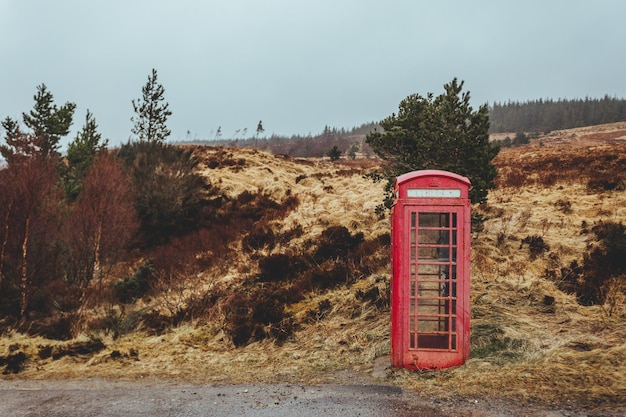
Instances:
[[[170,140],[379,121],[454,77],[472,104],[626,97],[623,0],[0,0],[0,118],[44,83],[112,145],[152,68]],[[4,132],[0,132],[4,136]]]

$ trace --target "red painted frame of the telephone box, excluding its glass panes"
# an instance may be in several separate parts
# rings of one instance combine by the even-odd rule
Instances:
[[[391,215],[390,323],[391,361],[395,367],[420,370],[448,368],[462,365],[470,356],[469,187],[470,181],[467,178],[439,170],[409,172],[396,179],[396,198]],[[434,192],[426,192],[427,195],[431,195],[430,197],[408,197],[408,190],[410,189],[433,190]],[[455,196],[451,197],[448,194],[448,196],[443,197],[447,190],[455,190]],[[455,349],[410,347],[411,294],[409,286],[411,273],[409,258],[411,244],[409,233],[411,229],[410,213],[412,212],[457,213]],[[417,263],[419,264],[419,261]],[[415,302],[418,303],[419,301]],[[414,319],[418,320],[419,317],[414,317]],[[414,331],[416,335],[419,335],[417,330],[414,329]]]

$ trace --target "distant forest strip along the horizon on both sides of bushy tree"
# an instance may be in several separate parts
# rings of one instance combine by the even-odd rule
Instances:
[[[553,130],[594,126],[626,121],[626,100],[604,96],[601,99],[577,100],[539,99],[527,102],[509,101],[489,106],[491,127],[489,133],[547,133]],[[374,156],[365,143],[365,135],[374,129],[382,130],[376,122],[364,123],[351,129],[325,126],[316,135],[292,135],[239,139],[200,140],[187,143],[245,147],[293,157],[324,157],[334,147],[341,158],[354,159]],[[523,142],[521,142],[523,143]]]

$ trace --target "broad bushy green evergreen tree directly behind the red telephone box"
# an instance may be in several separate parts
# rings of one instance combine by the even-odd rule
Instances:
[[[383,132],[366,136],[372,150],[387,161],[383,172],[373,176],[387,179],[386,207],[393,202],[395,178],[414,170],[441,169],[468,177],[473,203],[485,202],[488,190],[495,187],[491,161],[499,148],[489,142],[487,105],[474,111],[469,92],[462,92],[463,81],[456,78],[444,89],[438,97],[408,96],[397,115],[380,122]]]

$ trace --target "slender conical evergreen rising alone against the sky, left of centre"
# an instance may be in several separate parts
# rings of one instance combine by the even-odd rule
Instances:
[[[141,88],[142,98],[132,100],[136,116],[131,117],[133,122],[132,133],[140,142],[162,143],[170,135],[167,128],[167,118],[172,115],[169,103],[165,102],[165,88],[157,81],[157,72],[152,69],[148,82]]]

